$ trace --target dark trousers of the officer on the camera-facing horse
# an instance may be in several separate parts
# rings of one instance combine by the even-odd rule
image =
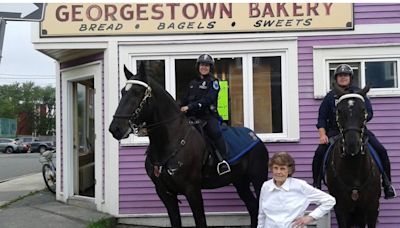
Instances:
[[[391,181],[390,161],[385,147],[383,147],[383,145],[378,141],[376,136],[371,131],[367,130],[367,134],[369,138],[369,143],[375,149],[376,153],[379,156],[379,159],[381,160],[383,171],[386,173],[388,181]],[[315,151],[312,163],[314,183],[318,180],[318,178],[321,178],[320,175],[322,172],[322,163],[328,147],[328,144],[320,144]],[[382,185],[383,184],[384,183],[382,182]]]

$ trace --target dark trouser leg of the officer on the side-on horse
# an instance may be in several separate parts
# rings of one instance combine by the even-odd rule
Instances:
[[[210,116],[207,119],[206,126],[204,126],[204,131],[214,141],[217,150],[221,154],[221,156],[226,158],[226,146],[225,141],[222,137],[221,128],[218,122],[218,119],[214,116]]]

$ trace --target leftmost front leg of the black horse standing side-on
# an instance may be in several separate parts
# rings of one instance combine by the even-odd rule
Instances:
[[[157,187],[156,185],[157,195],[160,197],[161,201],[164,203],[165,207],[168,211],[169,220],[171,222],[171,227],[173,228],[181,228],[181,214],[179,212],[178,205],[178,196],[176,194],[172,194],[166,191],[162,187]]]

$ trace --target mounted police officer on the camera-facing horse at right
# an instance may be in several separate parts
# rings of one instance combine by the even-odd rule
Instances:
[[[359,88],[353,86],[351,83],[353,81],[353,69],[347,64],[341,64],[335,69],[335,81],[336,84],[345,92],[357,92]],[[325,156],[325,153],[328,149],[330,139],[337,136],[339,134],[339,129],[336,123],[336,102],[337,96],[333,91],[330,91],[324,98],[319,107],[318,113],[318,123],[317,128],[319,132],[319,146],[315,151],[315,155],[312,163],[313,170],[313,185],[316,188],[321,189],[321,172],[322,172],[322,163]],[[366,97],[365,98],[365,108],[367,109],[367,122],[372,119],[373,111],[371,102]],[[386,149],[383,145],[378,141],[375,135],[365,129],[368,141],[371,146],[377,152],[379,159],[381,160],[383,171],[382,172],[382,186],[385,193],[385,199],[395,198],[396,191],[391,186],[391,175],[390,175],[390,161],[387,155]]]

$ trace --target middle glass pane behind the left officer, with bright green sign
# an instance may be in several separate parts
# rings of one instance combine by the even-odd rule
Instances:
[[[180,103],[189,82],[197,77],[196,59],[176,59],[176,98]],[[216,58],[214,77],[220,80],[218,111],[230,126],[244,126],[242,58]]]

